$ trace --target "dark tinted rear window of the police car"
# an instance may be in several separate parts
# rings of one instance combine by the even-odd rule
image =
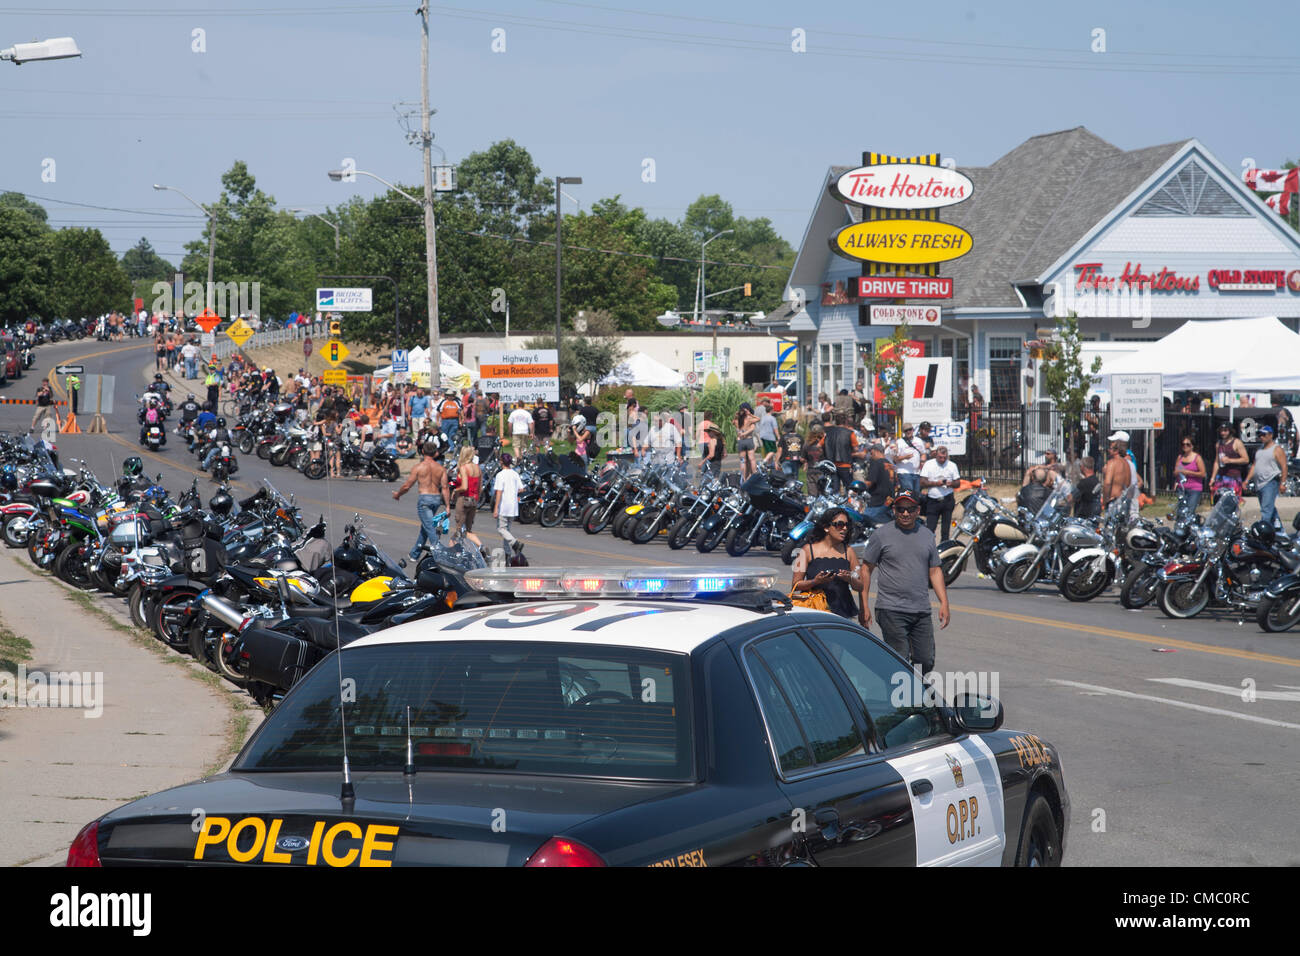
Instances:
[[[312,670],[234,770],[337,771],[339,709],[356,770],[685,780],[686,657],[601,645],[430,643],[352,648]]]

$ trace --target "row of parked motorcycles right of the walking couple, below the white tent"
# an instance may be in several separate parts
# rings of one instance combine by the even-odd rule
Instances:
[[[1170,618],[1219,609],[1253,614],[1269,632],[1300,623],[1300,535],[1265,522],[1243,527],[1234,492],[1222,493],[1205,515],[1179,494],[1169,523],[1138,514],[1136,486],[1100,519],[1072,516],[1074,493],[1061,480],[1034,512],[975,489],[961,503],[957,537],[940,546],[944,580],[952,584],[974,563],[1008,593],[1052,584],[1067,601],[1113,591],[1127,609],[1154,604]],[[1300,518],[1295,527],[1300,531]]]

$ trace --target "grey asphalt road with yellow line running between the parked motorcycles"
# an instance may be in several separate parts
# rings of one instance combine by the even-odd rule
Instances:
[[[126,455],[140,454],[169,488],[195,476],[212,486],[183,446],[153,455],[136,442],[131,395],[148,377],[147,345],[42,346],[32,371],[43,375],[61,362],[118,376],[109,434],[60,436],[65,459],[84,458],[107,477]],[[0,397],[30,398],[38,381],[39,375],[25,377]],[[0,406],[0,429],[26,429],[31,411]],[[296,494],[308,516],[324,514],[333,529],[363,514],[394,555],[417,533],[413,496],[394,502],[395,485],[309,481],[240,457],[239,484],[251,489],[263,476]],[[495,541],[486,515],[478,532]],[[780,581],[789,581],[775,555],[672,551],[578,528],[516,525],[516,533],[534,566],[738,561],[777,570]],[[1300,790],[1300,632],[1268,635],[1253,619],[1242,624],[1223,614],[1174,622],[1154,609],[1124,610],[1113,593],[1086,605],[1067,604],[1054,588],[1002,594],[970,570],[950,589],[950,602],[953,622],[939,633],[937,667],[987,674],[1006,708],[1006,726],[1061,750],[1074,814],[1069,865],[1300,865],[1292,823]]]

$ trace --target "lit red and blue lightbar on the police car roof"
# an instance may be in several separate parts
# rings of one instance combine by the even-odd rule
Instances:
[[[697,597],[768,591],[776,574],[718,567],[507,567],[469,571],[465,581],[477,591],[515,597]]]

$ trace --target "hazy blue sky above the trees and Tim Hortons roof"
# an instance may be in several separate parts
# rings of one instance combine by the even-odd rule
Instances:
[[[176,263],[237,159],[280,206],[316,212],[373,181],[420,181],[416,0],[0,0],[0,47],[72,35],[81,60],[0,64],[0,191],[94,225],[118,254],[147,235]],[[463,0],[462,0],[463,3]],[[1188,137],[1228,168],[1300,155],[1294,38],[1210,3],[433,4],[430,104],[451,163],[498,139],[584,207],[621,194],[679,219],[719,193],[798,245],[820,177],[863,150],[984,165],[1031,135],[1087,126],[1123,148]],[[205,31],[194,52],[192,31]],[[802,30],[806,52],[792,49]],[[1093,31],[1105,52],[1092,52]],[[493,31],[504,30],[504,52]],[[434,152],[436,161],[437,151]],[[46,160],[55,181],[43,182]],[[653,159],[655,181],[642,181]],[[53,200],[117,207],[125,212]],[[569,207],[572,208],[572,207]],[[567,209],[568,211],[568,209]],[[187,216],[194,219],[185,219]]]

